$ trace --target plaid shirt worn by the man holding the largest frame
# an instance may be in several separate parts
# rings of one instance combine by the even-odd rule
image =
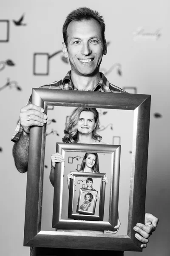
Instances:
[[[71,77],[70,77],[70,72],[67,73],[67,75],[59,80],[55,81],[52,84],[45,84],[40,86],[40,88],[45,88],[45,89],[54,89],[54,90],[78,90],[72,83]],[[103,73],[100,73],[101,79],[99,83],[96,85],[94,89],[88,90],[88,91],[95,91],[95,92],[112,92],[112,93],[127,93],[125,90],[122,90],[121,88],[111,84],[108,79],[104,76]],[[31,97],[27,103],[31,103]],[[19,121],[17,124],[17,127],[14,131],[14,134],[11,138],[11,141],[17,142],[20,139],[20,135],[23,131],[23,127],[21,125],[21,122]]]

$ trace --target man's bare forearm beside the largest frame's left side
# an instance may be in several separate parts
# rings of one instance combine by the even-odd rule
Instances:
[[[21,173],[27,172],[28,168],[28,145],[29,134],[23,132],[20,139],[14,144],[12,154],[14,157],[15,166]]]

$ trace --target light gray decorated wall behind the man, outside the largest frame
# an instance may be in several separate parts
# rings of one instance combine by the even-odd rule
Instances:
[[[15,63],[13,67],[5,65],[5,68],[0,70],[0,88],[6,84],[7,78],[10,78],[10,81],[17,81],[17,86],[22,89],[17,90],[12,82],[11,87],[0,90],[2,110],[0,114],[0,147],[2,148],[0,254],[29,255],[29,248],[23,247],[26,174],[21,175],[14,166],[11,154],[13,143],[10,141],[19,119],[20,108],[26,105],[32,87],[61,79],[69,70],[69,65],[61,60],[62,54],[59,54],[51,58],[48,76],[34,76],[33,54],[48,52],[51,55],[61,49],[62,24],[65,17],[71,10],[80,6],[96,9],[104,16],[105,37],[110,44],[108,54],[103,58],[101,70],[106,72],[113,64],[121,64],[121,67],[115,66],[107,75],[108,79],[119,87],[136,87],[137,93],[152,95],[146,212],[159,217],[159,225],[142,255],[168,256],[170,253],[168,244],[170,4],[168,0],[0,1],[0,20],[9,20],[10,24],[9,41],[0,42],[0,61],[11,59]],[[26,23],[26,26],[15,26],[12,20],[18,20],[23,13],[25,13],[23,23]],[[0,40],[5,37],[6,28],[3,25],[4,23],[0,23]],[[143,33],[149,34],[135,36],[140,27],[144,29]],[[2,65],[1,63],[0,68]],[[122,76],[117,73],[118,67],[122,70]],[[41,68],[43,67],[40,66]],[[155,113],[161,114],[161,117],[156,118]],[[48,176],[49,169],[45,169],[45,172]],[[126,252],[125,255],[133,256],[139,253]]]

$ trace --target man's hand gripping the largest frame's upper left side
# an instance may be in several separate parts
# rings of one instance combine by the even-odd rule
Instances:
[[[47,122],[47,116],[43,112],[43,108],[34,104],[28,104],[21,108],[19,116],[24,132],[29,134],[31,126],[42,126]]]

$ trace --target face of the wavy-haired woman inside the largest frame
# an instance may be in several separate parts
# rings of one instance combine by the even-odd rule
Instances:
[[[79,115],[79,120],[77,123],[77,130],[81,134],[92,134],[92,131],[96,127],[96,122],[94,120],[94,113],[90,111],[82,111]]]

